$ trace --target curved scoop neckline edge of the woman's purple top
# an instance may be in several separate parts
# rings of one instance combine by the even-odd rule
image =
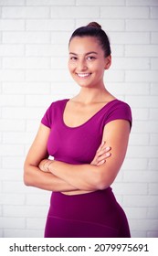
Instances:
[[[65,100],[65,103],[64,103],[64,107],[63,107],[63,110],[62,110],[62,123],[64,124],[65,127],[67,127],[68,129],[78,129],[84,125],[86,125],[87,123],[90,123],[90,121],[96,116],[98,115],[102,110],[104,110],[108,105],[110,105],[113,101],[119,101],[118,99],[114,99],[112,101],[109,101],[107,102],[98,112],[96,112],[95,114],[93,114],[90,119],[88,119],[85,123],[81,123],[79,124],[78,126],[68,126],[65,122],[64,122],[64,112],[65,112],[65,109],[66,109],[66,106],[67,106],[67,103],[68,101],[70,101],[70,99],[66,99]]]

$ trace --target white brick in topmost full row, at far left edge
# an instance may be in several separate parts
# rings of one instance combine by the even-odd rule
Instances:
[[[49,9],[45,6],[10,6],[2,7],[3,18],[48,18]]]

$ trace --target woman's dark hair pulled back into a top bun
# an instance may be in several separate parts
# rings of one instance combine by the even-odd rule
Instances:
[[[104,56],[111,55],[110,40],[104,30],[101,29],[100,24],[97,22],[90,22],[85,27],[77,28],[71,35],[69,43],[73,37],[96,37],[100,43],[100,47],[104,51]]]

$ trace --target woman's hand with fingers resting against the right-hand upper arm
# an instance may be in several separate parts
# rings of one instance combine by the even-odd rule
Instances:
[[[111,147],[110,146],[106,147],[105,142],[102,142],[90,165],[98,165],[98,166],[103,165],[106,162],[106,159],[111,156],[110,151],[111,151]]]

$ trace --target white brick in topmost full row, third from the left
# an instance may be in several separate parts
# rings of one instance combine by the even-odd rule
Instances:
[[[128,7],[111,6],[100,7],[100,17],[102,18],[148,18],[148,7]]]

